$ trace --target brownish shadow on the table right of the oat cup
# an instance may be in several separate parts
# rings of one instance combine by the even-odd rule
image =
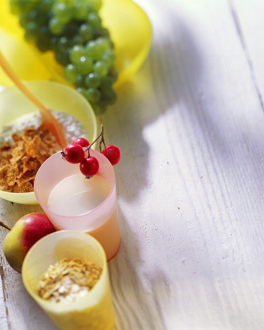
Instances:
[[[165,275],[157,268],[151,274],[146,270],[142,276],[140,268],[145,261],[140,259],[132,228],[119,213],[122,242],[118,254],[108,263],[116,329],[164,329],[161,304],[169,304],[170,297]]]

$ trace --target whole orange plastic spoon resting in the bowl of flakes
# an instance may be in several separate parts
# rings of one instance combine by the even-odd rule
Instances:
[[[0,65],[2,66],[6,74],[9,76],[9,78],[11,78],[13,82],[18,86],[20,91],[38,107],[45,127],[55,136],[56,141],[60,145],[60,147],[64,149],[67,143],[62,127],[57,122],[52,113],[25,87],[25,85],[22,84],[19,77],[12,70],[1,51]]]

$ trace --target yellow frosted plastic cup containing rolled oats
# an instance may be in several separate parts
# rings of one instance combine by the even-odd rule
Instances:
[[[94,287],[73,302],[56,303],[38,295],[38,281],[49,265],[63,258],[81,258],[102,268]],[[22,265],[22,280],[27,292],[63,330],[111,330],[114,311],[111,300],[106,256],[92,236],[78,231],[63,230],[49,234],[35,243]]]

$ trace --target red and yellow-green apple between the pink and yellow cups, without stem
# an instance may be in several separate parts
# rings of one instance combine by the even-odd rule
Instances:
[[[21,272],[27,251],[39,239],[54,231],[56,229],[45,214],[29,213],[22,216],[4,240],[3,251],[10,266]]]

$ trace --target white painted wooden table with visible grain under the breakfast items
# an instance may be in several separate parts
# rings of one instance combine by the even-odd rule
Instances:
[[[263,329],[263,1],[138,3],[150,55],[98,118],[122,150],[116,328]],[[0,208],[9,225],[40,209]],[[1,264],[1,329],[56,329]]]

